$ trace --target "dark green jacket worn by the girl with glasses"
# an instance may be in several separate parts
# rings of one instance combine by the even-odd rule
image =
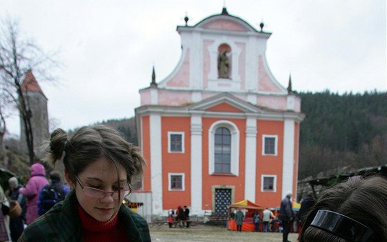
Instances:
[[[70,192],[64,201],[33,221],[18,242],[23,241],[82,241],[82,225],[77,212],[77,197]],[[126,205],[121,205],[117,223],[124,224],[131,242],[151,241],[147,221]]]

